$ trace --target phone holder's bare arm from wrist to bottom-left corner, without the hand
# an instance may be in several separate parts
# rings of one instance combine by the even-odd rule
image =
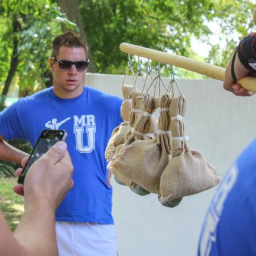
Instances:
[[[14,235],[0,213],[0,255],[56,256],[54,228],[54,210],[44,202],[27,207]]]

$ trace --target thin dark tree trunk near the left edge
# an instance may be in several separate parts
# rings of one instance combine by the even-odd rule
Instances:
[[[3,109],[3,106],[5,105],[5,98],[9,91],[11,80],[13,80],[13,76],[16,72],[16,69],[19,64],[18,59],[18,38],[16,36],[16,32],[20,30],[20,23],[18,22],[18,19],[16,17],[13,18],[13,55],[11,56],[11,67],[9,70],[9,73],[7,75],[5,86],[3,88],[2,96],[1,96],[1,102],[0,102],[0,110]]]

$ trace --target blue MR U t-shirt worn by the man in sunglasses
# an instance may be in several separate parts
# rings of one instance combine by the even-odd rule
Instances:
[[[51,87],[20,98],[0,113],[0,135],[5,139],[24,139],[34,146],[43,129],[67,131],[75,184],[57,209],[57,221],[113,224],[104,152],[122,122],[121,104],[121,98],[87,86],[72,99],[57,97]]]

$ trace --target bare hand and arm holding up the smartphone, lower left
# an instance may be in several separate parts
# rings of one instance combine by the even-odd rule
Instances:
[[[22,161],[22,165],[26,161]],[[17,170],[18,175],[22,169]],[[57,256],[55,210],[73,186],[73,165],[67,144],[57,142],[32,164],[23,185],[14,191],[24,194],[25,210],[14,235],[0,215],[0,255]]]

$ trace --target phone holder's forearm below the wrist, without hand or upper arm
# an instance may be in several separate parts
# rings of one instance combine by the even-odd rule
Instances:
[[[14,232],[24,256],[57,256],[55,212],[44,199],[25,207],[25,212]],[[25,205],[28,205],[25,203]],[[20,254],[16,254],[20,255]],[[23,254],[21,254],[23,256]]]

